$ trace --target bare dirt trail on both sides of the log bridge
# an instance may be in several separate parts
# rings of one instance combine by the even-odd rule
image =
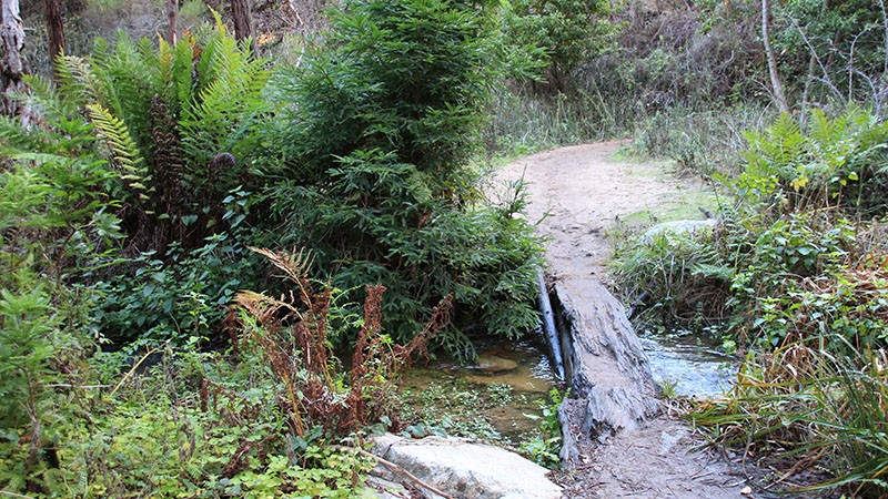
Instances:
[[[620,218],[656,211],[702,185],[668,175],[658,165],[613,160],[624,142],[558,149],[517,161],[501,177],[527,182],[531,222],[547,243],[547,272],[583,286],[605,278],[613,244],[605,232]],[[659,172],[659,173],[658,173]],[[547,216],[544,217],[544,215]],[[579,284],[576,284],[579,283]],[[582,289],[578,291],[582,293]],[[668,416],[622,431],[605,445],[584,450],[568,498],[740,498],[743,473],[705,451],[695,451],[687,426]],[[747,492],[743,495],[741,492]]]

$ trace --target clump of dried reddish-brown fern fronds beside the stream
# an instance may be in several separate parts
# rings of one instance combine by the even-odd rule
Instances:
[[[364,322],[357,334],[351,368],[333,370],[333,346],[329,340],[332,291],[315,291],[307,279],[310,252],[274,252],[251,247],[269,258],[282,277],[295,283],[300,297],[273,298],[244,291],[236,304],[255,323],[241,320],[242,334],[252,338],[285,390],[284,406],[296,435],[311,425],[322,425],[337,435],[349,435],[377,421],[383,415],[397,421],[387,401],[413,355],[425,355],[428,339],[450,320],[452,296],[434,308],[432,320],[411,343],[397,345],[382,330],[382,285],[367,286]],[[343,383],[345,381],[345,383]],[[208,396],[204,396],[206,398]],[[396,422],[395,422],[396,424]]]

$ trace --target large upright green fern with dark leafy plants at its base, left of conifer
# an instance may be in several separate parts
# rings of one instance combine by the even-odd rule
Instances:
[[[93,327],[113,342],[143,333],[179,343],[208,335],[234,292],[258,277],[243,240],[254,231],[256,136],[250,125],[265,109],[265,61],[216,19],[214,28],[174,47],[124,35],[111,47],[99,39],[91,57],[63,57],[56,67],[56,86],[31,80],[28,100],[38,125],[7,125],[0,135],[22,157],[87,156],[107,164],[98,181],[82,167],[52,173],[62,183],[83,175],[93,195],[119,200],[101,212],[88,207],[97,221],[120,218],[104,230],[125,235],[132,257],[93,265],[82,276],[103,295]]]

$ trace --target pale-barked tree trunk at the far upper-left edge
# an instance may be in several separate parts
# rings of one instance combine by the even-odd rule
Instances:
[[[22,77],[28,73],[24,49],[24,26],[19,13],[19,0],[2,0],[0,10],[0,113],[14,116],[21,112],[9,92],[24,91]]]

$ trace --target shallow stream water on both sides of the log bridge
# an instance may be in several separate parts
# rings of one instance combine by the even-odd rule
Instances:
[[[654,378],[672,395],[712,396],[730,387],[735,361],[694,335],[643,335]],[[483,346],[478,365],[436,361],[412,368],[402,396],[427,428],[468,438],[517,445],[538,432],[541,404],[564,390],[542,338]],[[422,436],[422,435],[418,435]]]

